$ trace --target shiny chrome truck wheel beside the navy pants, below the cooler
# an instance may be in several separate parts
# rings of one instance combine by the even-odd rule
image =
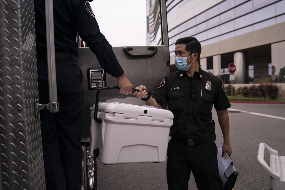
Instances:
[[[90,155],[90,138],[81,139],[82,177],[80,190],[97,190],[96,159]]]

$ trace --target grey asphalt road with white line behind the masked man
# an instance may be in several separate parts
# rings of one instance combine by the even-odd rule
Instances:
[[[277,150],[280,156],[285,156],[285,120],[252,112],[285,118],[285,104],[232,103],[228,111],[233,150],[231,158],[238,170],[235,190],[269,190],[270,176],[257,163],[258,147],[263,142]],[[212,112],[216,121],[217,140],[222,142],[223,136],[214,108]],[[268,151],[265,151],[264,159],[269,164]],[[166,162],[108,166],[97,160],[97,180],[99,190],[164,190],[167,189]],[[189,189],[197,190],[193,175]]]

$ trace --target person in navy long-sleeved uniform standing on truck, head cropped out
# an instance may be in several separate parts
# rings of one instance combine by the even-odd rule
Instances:
[[[45,1],[34,0],[39,103],[49,102]],[[89,1],[54,0],[54,37],[58,113],[40,111],[47,190],[79,190],[83,120],[82,72],[77,65],[77,31],[103,69],[117,78],[120,93],[131,94],[111,45],[100,32]]]

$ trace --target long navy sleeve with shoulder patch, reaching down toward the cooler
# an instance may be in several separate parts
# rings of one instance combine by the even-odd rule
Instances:
[[[113,77],[122,75],[124,70],[119,64],[115,53],[112,50],[112,46],[100,32],[89,1],[75,1],[74,17],[80,37],[87,42],[102,68]]]

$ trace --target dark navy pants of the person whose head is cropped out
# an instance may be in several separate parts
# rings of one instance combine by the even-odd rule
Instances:
[[[38,59],[39,102],[49,102],[47,62]],[[40,111],[47,190],[79,190],[83,120],[82,72],[77,61],[56,59],[59,111]]]

